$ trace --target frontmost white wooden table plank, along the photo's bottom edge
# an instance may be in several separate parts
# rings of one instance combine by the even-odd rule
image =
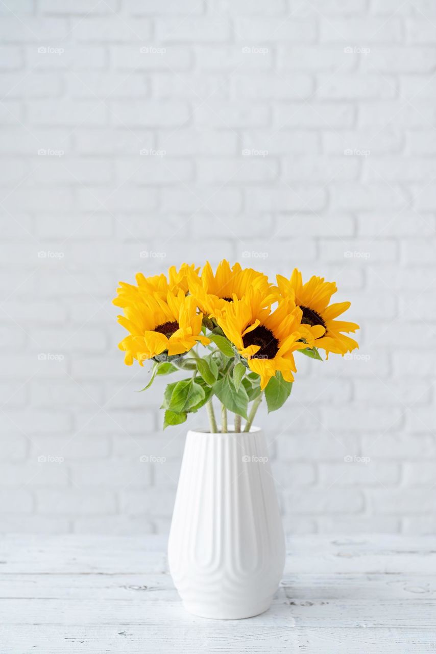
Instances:
[[[254,618],[233,623],[207,620],[203,626],[51,627],[19,632],[0,627],[5,654],[434,654],[429,629],[258,627]]]

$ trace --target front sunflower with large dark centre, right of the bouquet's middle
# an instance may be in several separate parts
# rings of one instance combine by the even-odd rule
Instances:
[[[316,337],[324,333],[320,326],[301,324],[302,315],[290,297],[280,299],[277,308],[271,311],[270,307],[264,307],[260,292],[250,290],[242,300],[235,296],[217,322],[248,361],[248,368],[260,375],[263,390],[277,371],[286,381],[293,381],[293,373],[297,371],[293,352],[313,347]]]

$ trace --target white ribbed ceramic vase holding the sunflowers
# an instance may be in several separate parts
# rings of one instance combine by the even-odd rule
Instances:
[[[238,619],[269,608],[282,577],[285,543],[260,429],[188,432],[168,557],[190,613]]]

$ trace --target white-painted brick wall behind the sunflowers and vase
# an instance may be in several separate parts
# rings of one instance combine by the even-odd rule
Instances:
[[[362,326],[258,417],[287,530],[434,531],[435,3],[7,5],[1,529],[167,530],[186,426],[110,300],[226,257],[335,279]]]

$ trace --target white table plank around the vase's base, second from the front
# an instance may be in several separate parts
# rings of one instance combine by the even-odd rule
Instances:
[[[290,600],[278,593],[271,609],[256,618],[257,625],[300,627],[436,628],[434,600]],[[143,593],[126,600],[86,598],[0,600],[2,625],[184,625],[203,619],[184,611],[180,601],[154,599]]]

